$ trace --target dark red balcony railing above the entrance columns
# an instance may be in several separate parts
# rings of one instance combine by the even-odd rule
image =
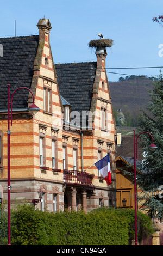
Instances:
[[[94,176],[90,173],[79,172],[79,170],[64,170],[64,181],[66,184],[92,186]]]

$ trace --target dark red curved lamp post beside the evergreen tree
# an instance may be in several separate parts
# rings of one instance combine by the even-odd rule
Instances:
[[[149,132],[141,132],[139,133],[139,135],[137,135],[136,137],[136,143],[135,143],[135,130],[134,130],[134,194],[135,194],[135,245],[137,245],[137,200],[136,200],[136,159],[137,159],[137,139],[138,137],[142,134],[142,133],[147,133],[148,135],[151,136],[152,138],[152,144],[149,146],[149,149],[151,151],[154,151],[155,149],[157,149],[158,147],[156,147],[155,144],[153,144],[153,137],[151,135],[151,133]],[[135,145],[136,145],[136,151],[135,151]]]

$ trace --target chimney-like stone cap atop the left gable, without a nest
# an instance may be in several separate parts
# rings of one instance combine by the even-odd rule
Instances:
[[[52,28],[49,19],[40,19],[37,27],[39,28],[39,39],[49,42],[49,33]]]

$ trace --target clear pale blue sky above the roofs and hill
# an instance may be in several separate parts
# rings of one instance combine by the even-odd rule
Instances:
[[[106,48],[109,81],[118,81],[126,75],[157,76],[160,71],[160,68],[109,68],[163,66],[163,27],[152,21],[154,16],[163,15],[162,0],[1,0],[0,3],[1,37],[14,36],[15,20],[17,36],[38,34],[39,19],[45,16],[50,20],[54,63],[96,61],[95,50],[88,44],[98,39],[100,32],[104,38],[114,40],[112,48]]]

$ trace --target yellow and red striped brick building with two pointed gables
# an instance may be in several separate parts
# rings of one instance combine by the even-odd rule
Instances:
[[[39,35],[2,38],[0,197],[7,200],[8,86],[33,92],[40,108],[34,116],[29,90],[13,96],[10,142],[11,204],[34,203],[55,212],[116,205],[115,121],[105,72],[106,48],[97,62],[54,64],[51,23],[37,23]],[[111,153],[111,154],[110,154]],[[110,154],[112,183],[93,165]],[[38,192],[42,192],[39,197]]]

